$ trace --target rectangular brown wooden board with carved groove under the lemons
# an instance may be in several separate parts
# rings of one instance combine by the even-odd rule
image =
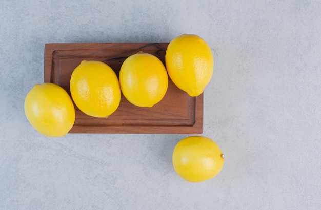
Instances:
[[[55,83],[69,94],[72,71],[82,60],[99,60],[119,74],[124,60],[139,51],[150,53],[165,65],[168,43],[69,43],[45,45],[44,82]],[[152,108],[136,107],[123,95],[118,109],[108,118],[95,118],[76,106],[76,119],[69,133],[203,133],[203,94],[190,97],[169,79],[164,98]]]

